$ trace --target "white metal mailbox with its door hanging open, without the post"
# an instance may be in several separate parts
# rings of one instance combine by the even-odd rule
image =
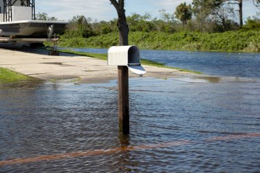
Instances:
[[[109,66],[128,66],[131,72],[144,75],[146,71],[140,63],[140,51],[137,46],[112,46],[108,49]]]

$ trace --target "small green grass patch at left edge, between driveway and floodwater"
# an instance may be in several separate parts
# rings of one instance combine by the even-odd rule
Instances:
[[[29,81],[33,78],[22,75],[21,73],[0,67],[0,83],[12,83],[16,81]]]

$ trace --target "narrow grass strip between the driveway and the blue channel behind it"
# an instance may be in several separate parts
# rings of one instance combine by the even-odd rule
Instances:
[[[59,50],[59,51],[63,52],[63,53],[71,53],[71,54],[74,54],[74,55],[94,57],[96,59],[102,59],[102,60],[107,61],[107,54],[105,54],[105,53],[86,53],[86,52],[72,51],[72,50],[69,50],[69,49],[64,49],[64,50]],[[183,72],[192,72],[192,73],[196,73],[196,74],[202,74],[202,72],[197,72],[197,71],[194,71],[194,70],[187,70],[187,69],[184,69],[184,68],[170,67],[170,66],[166,66],[163,63],[151,61],[151,60],[148,60],[148,59],[141,59],[141,64],[147,65],[147,66],[156,66],[156,67],[159,67],[159,68],[176,69],[176,70],[181,70]]]

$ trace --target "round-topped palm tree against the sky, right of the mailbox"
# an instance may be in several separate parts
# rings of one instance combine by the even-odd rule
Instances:
[[[192,18],[192,5],[181,3],[177,6],[174,14],[176,15],[176,18],[183,23],[183,27],[185,27],[185,25],[187,25],[187,21]]]

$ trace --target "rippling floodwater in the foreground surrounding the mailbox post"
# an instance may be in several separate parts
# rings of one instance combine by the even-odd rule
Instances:
[[[1,85],[0,172],[260,172],[260,79],[222,76],[131,78],[127,136],[116,80]]]

